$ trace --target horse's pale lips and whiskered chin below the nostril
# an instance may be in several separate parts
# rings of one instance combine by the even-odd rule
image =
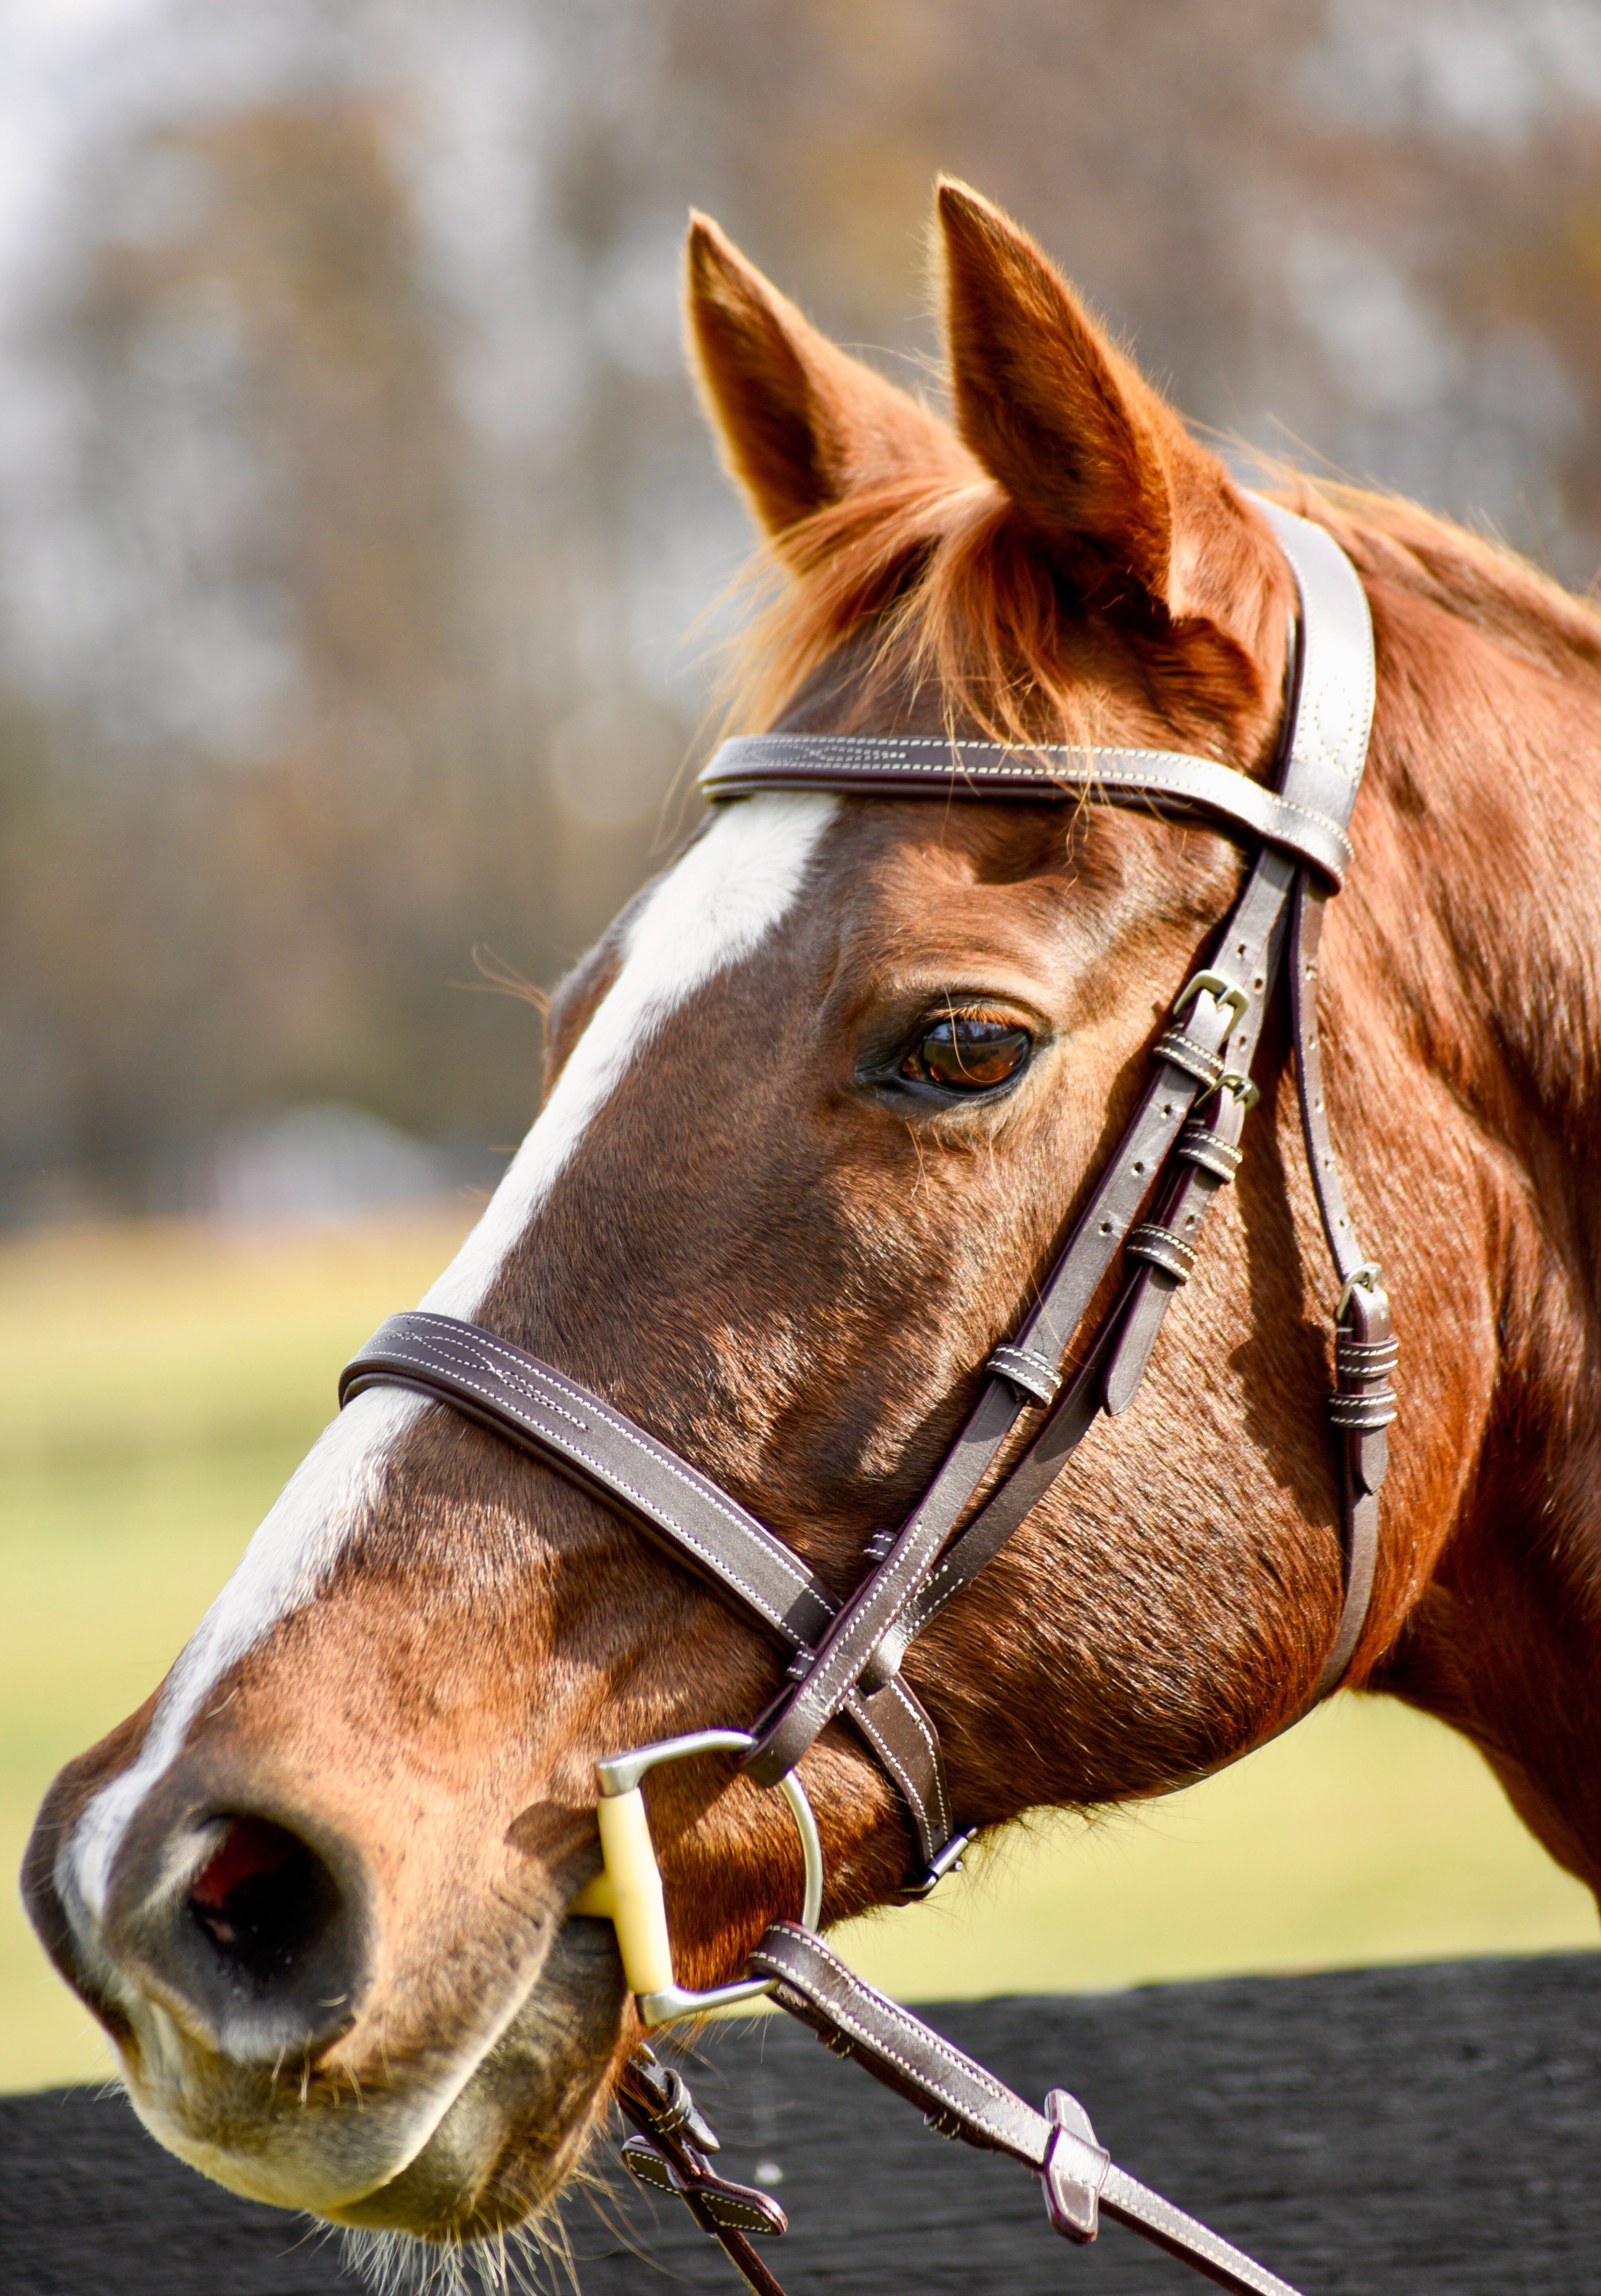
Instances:
[[[572,1919],[466,2076],[409,2080],[390,2066],[365,2089],[319,2080],[303,2103],[287,2073],[195,2064],[149,2009],[131,2020],[124,2069],[149,2133],[232,2193],[459,2243],[554,2202],[604,2110],[622,2007],[611,1924]]]

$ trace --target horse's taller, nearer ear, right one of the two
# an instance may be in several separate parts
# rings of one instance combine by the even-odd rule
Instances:
[[[1240,503],[1215,455],[1089,317],[1057,266],[967,184],[939,184],[958,429],[1047,546],[1128,572],[1174,615],[1208,611]],[[1211,558],[1211,567],[1208,567]]]

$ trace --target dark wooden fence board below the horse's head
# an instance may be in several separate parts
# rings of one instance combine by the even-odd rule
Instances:
[[[1601,2257],[1601,1956],[1153,1986],[928,2011],[1031,2101],[1089,2105],[1132,2174],[1305,2296],[1590,2296]],[[792,2296],[1178,2296],[1201,2280],[1109,2227],[1054,2239],[1034,2181],[933,2138],[788,2020],[689,2064],[728,2172],[790,2211]],[[609,2232],[567,2206],[583,2296],[737,2289],[678,2211],[613,2174]],[[627,2243],[634,2243],[629,2248]],[[648,2250],[668,2273],[657,2273]],[[547,2268],[547,2285],[554,2275]],[[7,2296],[333,2296],[303,2220],[234,2202],[90,2092],[0,2099]]]

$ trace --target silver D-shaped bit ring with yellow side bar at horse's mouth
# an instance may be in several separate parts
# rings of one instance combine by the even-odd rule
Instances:
[[[664,1761],[687,1761],[691,1754],[749,1754],[756,1745],[744,1729],[698,1729],[685,1738],[662,1738],[657,1745],[636,1745],[629,1754],[609,1754],[595,1763],[600,1779],[600,1851],[604,1869],[586,1883],[567,1906],[567,1913],[597,1915],[613,1922],[622,1975],[627,1988],[639,1998],[639,2016],[645,2027],[666,2025],[675,2016],[701,2016],[707,2009],[730,2009],[735,2002],[753,2002],[772,1993],[774,1977],[744,1977],[730,1986],[710,1986],[691,1993],[673,1981],[673,1947],[666,1933],[666,1899],[662,1892],[662,1867],[650,1839],[650,1818],[639,1782]],[[779,1793],[790,1805],[795,1828],[802,1837],[806,1862],[806,1887],[802,1892],[802,1929],[815,1929],[822,1913],[822,1841],[818,1821],[811,1814],[806,1789],[795,1770],[779,1779]]]

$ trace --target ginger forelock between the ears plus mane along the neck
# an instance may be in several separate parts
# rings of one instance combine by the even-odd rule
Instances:
[[[1505,544],[1403,496],[1273,468],[1268,489],[1339,537],[1360,572],[1557,673],[1601,668],[1601,613]],[[730,664],[730,716],[767,726],[852,638],[894,682],[937,680],[946,714],[992,739],[1093,742],[1096,700],[1064,647],[1057,576],[988,478],[861,487],[783,535]],[[868,682],[871,684],[871,682]]]

